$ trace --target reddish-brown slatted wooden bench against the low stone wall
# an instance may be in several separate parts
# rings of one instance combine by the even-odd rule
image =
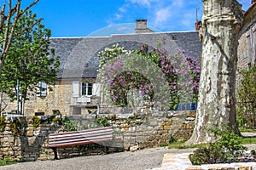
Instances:
[[[55,159],[58,159],[57,148],[74,146],[79,144],[94,144],[113,139],[113,127],[97,127],[80,131],[50,133],[48,144],[44,148],[54,151]]]

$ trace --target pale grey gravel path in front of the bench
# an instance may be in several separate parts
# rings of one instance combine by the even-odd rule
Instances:
[[[30,161],[15,165],[0,167],[4,170],[145,170],[161,166],[165,153],[192,152],[187,150],[169,150],[166,148],[153,148],[126,151],[102,156],[81,156],[72,159],[62,159],[57,161]]]

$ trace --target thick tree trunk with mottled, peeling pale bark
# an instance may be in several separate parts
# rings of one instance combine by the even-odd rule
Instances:
[[[216,140],[208,129],[236,127],[236,63],[241,4],[203,0],[201,80],[195,128],[187,144]]]

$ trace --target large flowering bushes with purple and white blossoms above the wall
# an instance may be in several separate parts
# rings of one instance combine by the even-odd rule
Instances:
[[[176,109],[180,102],[195,102],[198,98],[201,68],[195,59],[185,56],[182,50],[169,54],[160,45],[149,48],[147,44],[142,44],[137,49],[127,51],[116,44],[112,48],[105,48],[98,56],[102,83],[107,85],[114,105],[128,105],[127,94],[131,89],[138,89],[143,99],[149,101],[168,96],[171,110]],[[156,94],[153,82],[160,79],[155,76],[160,73],[164,75],[167,87],[160,84],[161,88]]]

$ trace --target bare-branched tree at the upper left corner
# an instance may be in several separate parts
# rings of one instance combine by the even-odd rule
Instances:
[[[25,26],[22,31],[16,31],[16,25],[20,16],[22,16],[29,8],[32,8],[33,5],[38,3],[39,0],[34,0],[30,5],[28,5],[24,10],[20,10],[21,0],[17,0],[15,6],[12,6],[13,0],[9,0],[8,3],[5,1],[3,3],[2,9],[0,11],[0,77],[3,69],[3,64],[6,58],[6,55],[9,52],[13,38],[16,35],[20,35],[23,31],[26,31],[27,28],[30,28],[32,25]],[[6,10],[6,6],[8,6]]]

